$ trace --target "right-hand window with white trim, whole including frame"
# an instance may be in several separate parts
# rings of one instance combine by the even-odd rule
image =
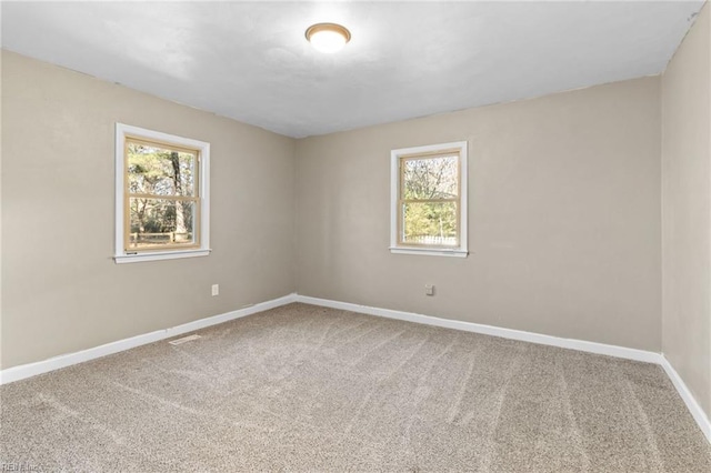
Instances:
[[[392,253],[467,256],[467,142],[393,150]]]

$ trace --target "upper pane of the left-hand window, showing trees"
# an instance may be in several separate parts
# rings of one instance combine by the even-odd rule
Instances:
[[[129,141],[127,160],[130,193],[196,195],[197,153]]]

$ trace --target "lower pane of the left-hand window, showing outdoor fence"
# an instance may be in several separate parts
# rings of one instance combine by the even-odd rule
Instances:
[[[196,243],[193,201],[131,198],[130,212],[127,249]]]

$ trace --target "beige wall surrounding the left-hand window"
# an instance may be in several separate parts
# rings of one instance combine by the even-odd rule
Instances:
[[[117,121],[211,143],[210,256],[113,263]],[[293,292],[292,139],[4,51],[2,125],[2,368]]]

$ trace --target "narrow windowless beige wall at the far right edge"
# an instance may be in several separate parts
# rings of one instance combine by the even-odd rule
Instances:
[[[711,416],[711,7],[662,80],[663,353]]]

